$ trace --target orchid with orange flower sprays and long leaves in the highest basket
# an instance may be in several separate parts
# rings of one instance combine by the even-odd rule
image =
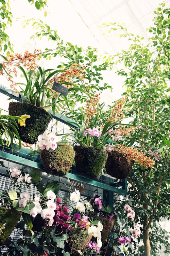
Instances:
[[[55,114],[56,103],[67,102],[67,97],[52,89],[53,83],[58,82],[69,87],[70,82],[62,79],[65,69],[44,69],[38,66],[37,61],[41,58],[41,51],[34,53],[26,51],[22,54],[10,54],[8,57],[1,55],[3,67],[0,75],[6,77],[10,87],[19,93],[22,102],[28,102],[35,106],[44,108],[46,111],[52,109]],[[61,67],[61,66],[60,66]],[[14,77],[24,77],[25,82],[16,82]],[[70,102],[71,103],[71,102]],[[73,103],[73,102],[72,102]]]

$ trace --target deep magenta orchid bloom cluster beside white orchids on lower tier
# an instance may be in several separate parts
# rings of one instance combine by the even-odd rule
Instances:
[[[71,226],[68,225],[68,222],[71,220],[69,209],[67,206],[63,206],[60,198],[56,199],[56,210],[54,212],[54,224],[60,226],[63,230],[71,230]]]

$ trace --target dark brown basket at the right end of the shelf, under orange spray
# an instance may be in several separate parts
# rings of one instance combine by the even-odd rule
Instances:
[[[125,179],[129,176],[134,160],[128,161],[122,153],[117,151],[108,152],[105,164],[106,172],[117,179]]]

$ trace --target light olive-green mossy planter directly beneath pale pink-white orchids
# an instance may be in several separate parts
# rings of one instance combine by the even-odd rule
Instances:
[[[75,152],[72,146],[64,143],[57,143],[57,148],[52,150],[41,150],[44,170],[58,176],[65,176],[74,160]]]

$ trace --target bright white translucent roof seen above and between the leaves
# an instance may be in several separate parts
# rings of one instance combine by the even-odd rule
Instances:
[[[99,54],[107,52],[115,54],[121,49],[128,47],[128,41],[110,33],[103,36],[104,29],[102,23],[120,22],[126,24],[128,30],[134,34],[139,34],[145,38],[144,43],[150,33],[146,31],[152,26],[154,11],[163,0],[47,0],[45,10],[48,15],[44,17],[44,11],[38,11],[34,5],[30,5],[27,0],[11,1],[11,12],[13,13],[13,25],[8,29],[11,42],[14,44],[16,53],[23,53],[25,50],[34,51],[46,47],[54,47],[50,41],[30,40],[30,36],[35,33],[31,26],[22,28],[23,19],[42,19],[51,29],[58,31],[58,35],[64,42],[71,42],[86,48],[92,46],[98,48]],[[168,6],[170,0],[164,1]],[[23,18],[24,16],[24,18]],[[16,19],[19,18],[17,21]],[[58,59],[50,61],[41,60],[45,68],[56,68]],[[41,65],[42,66],[42,65]],[[104,91],[102,99],[105,102],[112,102],[121,97],[124,77],[115,75],[115,71],[103,72],[104,82],[113,86],[113,93]],[[1,80],[0,80],[0,83]]]

